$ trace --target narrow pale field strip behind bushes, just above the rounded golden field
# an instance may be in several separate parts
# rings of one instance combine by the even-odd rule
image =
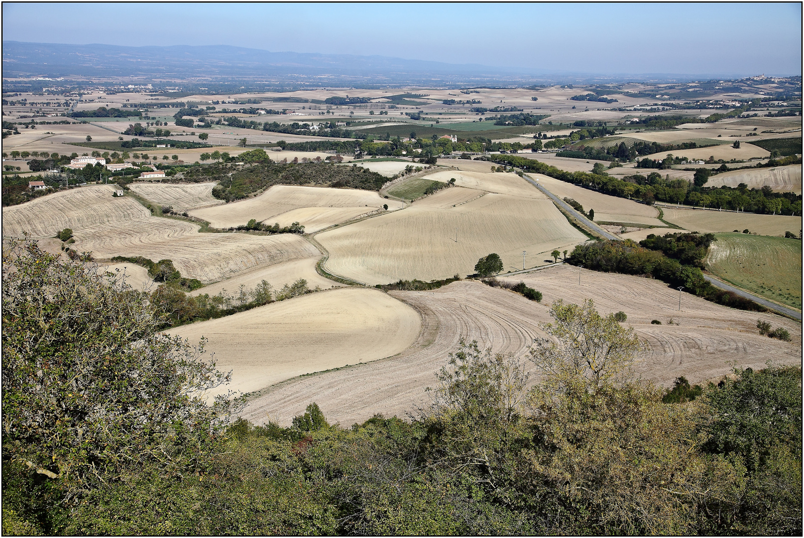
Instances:
[[[299,278],[307,281],[307,287],[314,290],[316,286],[322,290],[327,288],[343,287],[345,284],[331,281],[329,278],[322,277],[315,270],[315,265],[321,257],[300,258],[291,261],[282,261],[278,264],[266,267],[257,267],[245,273],[240,273],[235,277],[228,278],[214,284],[205,285],[203,288],[192,291],[191,295],[217,295],[225,290],[226,294],[237,294],[240,285],[253,290],[261,281],[267,281],[273,285],[274,290],[280,289],[285,284],[293,284]]]

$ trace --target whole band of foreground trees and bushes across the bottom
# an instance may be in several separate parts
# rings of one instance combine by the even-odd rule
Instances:
[[[311,404],[222,434],[224,399],[195,396],[219,374],[152,334],[137,294],[35,250],[12,263],[6,534],[802,532],[800,368],[663,403],[621,317],[559,301],[524,358],[461,341],[408,421],[344,428]]]

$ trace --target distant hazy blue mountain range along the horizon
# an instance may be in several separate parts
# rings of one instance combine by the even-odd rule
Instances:
[[[689,76],[595,76],[543,69],[445,64],[388,56],[270,52],[228,45],[120,47],[2,42],[3,76],[138,80],[252,80],[334,84],[534,84]]]

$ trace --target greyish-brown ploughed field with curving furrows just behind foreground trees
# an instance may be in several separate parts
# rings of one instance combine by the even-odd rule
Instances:
[[[454,282],[427,292],[389,292],[421,315],[422,331],[411,347],[392,359],[268,388],[252,400],[242,416],[257,424],[271,418],[289,425],[315,401],[328,419],[341,424],[364,421],[375,413],[404,417],[405,412],[428,401],[425,387],[437,384],[434,374],[445,365],[449,351],[456,349],[458,339],[477,339],[481,347],[491,347],[494,352],[522,356],[534,338],[544,335],[538,325],[551,320],[548,306],[556,298],[575,303],[593,298],[604,314],[626,311],[626,323],[650,344],[650,351],[636,364],[637,373],[663,386],[670,386],[679,376],[691,383],[717,378],[730,372],[734,361],[743,368],[764,368],[768,359],[801,364],[800,323],[773,314],[733,310],[688,294],[683,296],[679,314],[678,291],[662,282],[581,271],[580,286],[578,269],[568,265],[524,278],[510,277],[542,291],[541,304],[477,281]],[[680,325],[667,325],[671,317]],[[774,327],[786,327],[792,341],[759,335],[757,318]],[[662,325],[651,325],[651,319]]]

